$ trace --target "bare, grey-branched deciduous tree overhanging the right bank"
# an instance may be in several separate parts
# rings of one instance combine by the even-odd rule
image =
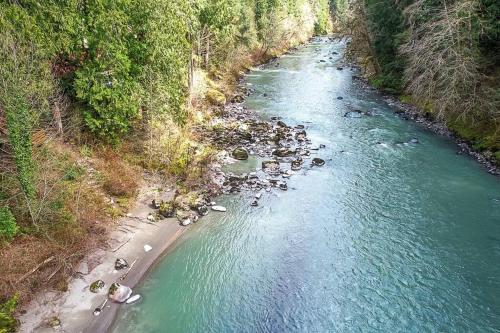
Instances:
[[[408,62],[406,89],[420,103],[431,102],[439,118],[454,114],[474,119],[495,110],[482,87],[478,7],[477,0],[453,5],[444,1],[439,8],[426,7],[425,1],[419,0],[405,10],[409,38],[400,51]]]

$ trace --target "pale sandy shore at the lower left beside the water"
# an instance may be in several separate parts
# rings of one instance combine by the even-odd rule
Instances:
[[[133,306],[108,302],[99,316],[93,315],[94,309],[106,299],[110,284],[126,272],[126,269],[114,269],[115,260],[124,258],[131,264],[137,259],[127,277],[120,281],[133,288],[187,230],[175,219],[148,223],[146,217],[152,211],[149,205],[158,192],[152,187],[141,192],[136,206],[130,211],[131,216],[120,219],[110,233],[109,247],[91,253],[80,263],[76,270],[78,277],[69,281],[67,292],[43,292],[22,309],[24,314],[19,318],[20,332],[106,332],[113,324],[120,306]],[[173,196],[173,193],[162,193],[162,197],[168,196]],[[146,244],[153,249],[146,252]],[[106,285],[99,293],[92,293],[89,286],[99,279]],[[60,325],[52,327],[49,322],[54,317],[58,318]]]

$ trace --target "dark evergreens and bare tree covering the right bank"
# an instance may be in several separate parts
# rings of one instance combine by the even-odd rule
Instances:
[[[371,83],[500,163],[500,6],[492,0],[335,0]]]

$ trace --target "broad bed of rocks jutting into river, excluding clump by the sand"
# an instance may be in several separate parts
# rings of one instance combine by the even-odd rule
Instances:
[[[259,118],[243,104],[250,91],[242,85],[233,102],[202,130],[201,140],[211,142],[219,151],[219,168],[238,160],[256,159],[259,167],[248,173],[216,173],[214,182],[220,193],[255,192],[252,206],[258,205],[263,191],[286,191],[287,179],[301,170],[325,164],[320,155],[324,145],[315,145],[307,137],[306,124],[285,124],[279,117]]]

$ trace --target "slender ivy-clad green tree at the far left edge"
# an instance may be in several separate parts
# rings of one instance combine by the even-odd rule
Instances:
[[[30,199],[35,194],[31,131],[47,114],[53,88],[40,38],[39,27],[25,11],[0,4],[0,109],[5,114],[16,176]]]

